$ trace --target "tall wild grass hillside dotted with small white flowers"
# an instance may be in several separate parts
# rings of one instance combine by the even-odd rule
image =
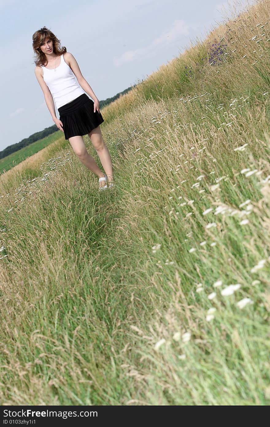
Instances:
[[[264,0],[104,108],[116,189],[9,171],[2,405],[270,403],[269,40]]]

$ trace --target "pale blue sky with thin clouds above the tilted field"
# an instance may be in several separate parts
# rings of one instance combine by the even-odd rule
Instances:
[[[257,2],[0,0],[0,150],[54,124],[34,73],[32,35],[43,26],[73,54],[101,101],[180,56],[234,10]]]

